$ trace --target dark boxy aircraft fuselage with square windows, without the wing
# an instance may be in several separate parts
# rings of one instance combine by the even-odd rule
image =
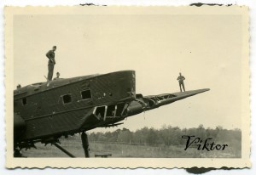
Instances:
[[[26,123],[19,140],[78,133],[107,125],[107,116],[117,120],[125,104],[135,98],[135,71],[57,79],[16,89],[15,114]],[[110,110],[116,110],[115,114]]]

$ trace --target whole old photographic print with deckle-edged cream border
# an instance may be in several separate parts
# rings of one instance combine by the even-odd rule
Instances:
[[[7,167],[250,167],[246,7],[5,14]]]

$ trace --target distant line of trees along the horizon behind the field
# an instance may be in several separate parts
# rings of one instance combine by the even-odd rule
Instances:
[[[89,140],[102,142],[124,142],[137,144],[165,144],[165,145],[181,145],[186,143],[183,135],[195,136],[201,139],[212,138],[211,141],[236,144],[241,147],[241,130],[240,129],[224,129],[223,127],[205,128],[203,125],[194,128],[179,128],[172,126],[163,126],[160,129],[153,127],[143,127],[135,132],[131,132],[127,128],[117,129],[113,132],[106,133],[89,133]],[[238,144],[238,145],[237,145]]]

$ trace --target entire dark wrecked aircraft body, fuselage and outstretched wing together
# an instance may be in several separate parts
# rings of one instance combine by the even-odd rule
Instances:
[[[47,142],[171,104],[209,89],[136,94],[135,72],[119,71],[32,84],[15,90],[15,144]]]

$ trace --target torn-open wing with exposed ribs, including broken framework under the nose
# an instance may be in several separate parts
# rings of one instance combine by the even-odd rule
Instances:
[[[210,89],[204,88],[183,93],[164,93],[144,97],[142,94],[137,94],[136,99],[129,103],[123,102],[123,105],[95,106],[84,115],[80,128],[89,130],[95,127],[113,127],[117,125],[116,122],[124,120],[127,116],[134,116],[146,110],[154,110],[162,105],[172,104],[177,100],[185,99],[198,93],[204,93],[208,90]]]

